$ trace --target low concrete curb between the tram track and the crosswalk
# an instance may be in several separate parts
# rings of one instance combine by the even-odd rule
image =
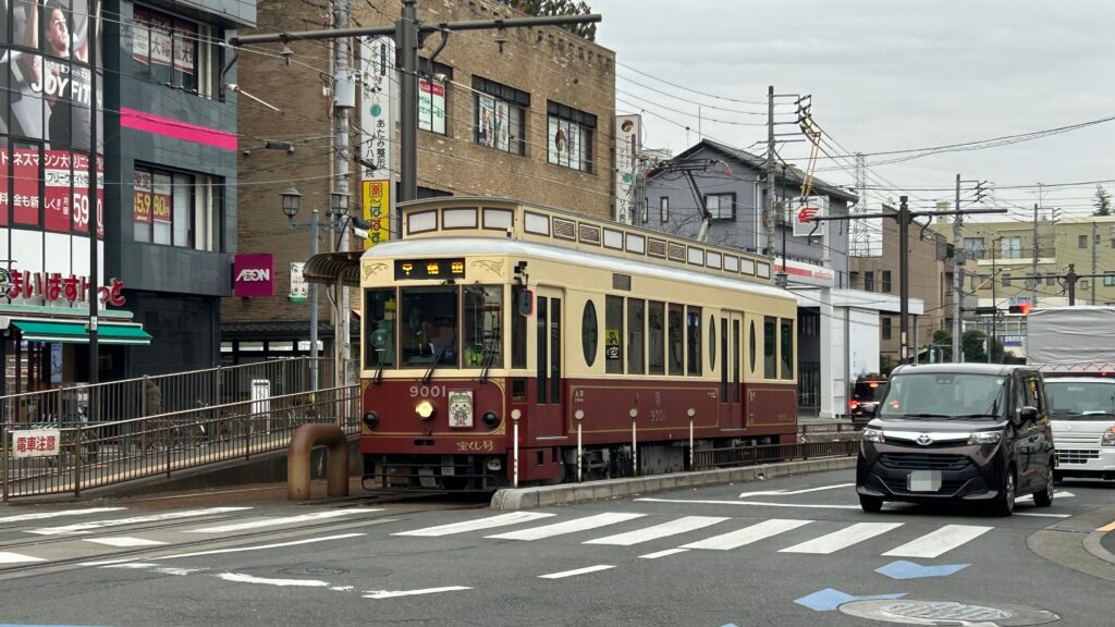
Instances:
[[[688,488],[746,483],[792,474],[844,470],[855,467],[855,456],[824,457],[737,469],[658,474],[631,479],[609,479],[604,481],[543,485],[539,488],[505,489],[497,491],[492,496],[491,508],[493,510],[527,510],[533,508],[573,505],[576,503],[622,499]]]

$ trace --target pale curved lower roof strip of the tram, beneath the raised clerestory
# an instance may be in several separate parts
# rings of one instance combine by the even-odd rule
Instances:
[[[796,297],[787,290],[769,283],[748,281],[744,278],[734,279],[728,276],[709,274],[680,267],[675,268],[624,257],[612,257],[609,254],[568,249],[542,242],[511,239],[442,237],[436,239],[389,241],[368,249],[363,253],[362,259],[407,259],[469,254],[498,254],[545,259],[547,261],[575,263],[588,268],[608,268],[620,273],[655,277],[658,279],[686,283],[700,283],[708,287],[744,291],[759,296],[791,298],[796,300]]]

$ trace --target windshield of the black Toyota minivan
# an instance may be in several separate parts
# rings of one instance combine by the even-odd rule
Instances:
[[[1007,377],[910,373],[890,379],[879,416],[899,419],[999,418],[1006,415]]]

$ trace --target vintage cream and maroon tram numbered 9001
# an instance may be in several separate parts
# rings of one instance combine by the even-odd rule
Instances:
[[[366,486],[570,481],[578,430],[590,479],[681,471],[690,432],[796,437],[769,259],[508,199],[399,211],[360,259]]]

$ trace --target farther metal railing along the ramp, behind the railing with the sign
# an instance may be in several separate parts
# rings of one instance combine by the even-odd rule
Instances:
[[[90,404],[97,422],[127,421],[248,401],[253,397],[253,385],[265,385],[268,389],[263,393],[269,396],[310,392],[313,387],[312,361],[312,357],[294,357],[9,394],[0,396],[0,422],[55,426],[76,424],[88,418],[87,407]],[[319,388],[332,387],[332,361],[318,359],[318,363]],[[259,395],[261,390],[256,393]]]

